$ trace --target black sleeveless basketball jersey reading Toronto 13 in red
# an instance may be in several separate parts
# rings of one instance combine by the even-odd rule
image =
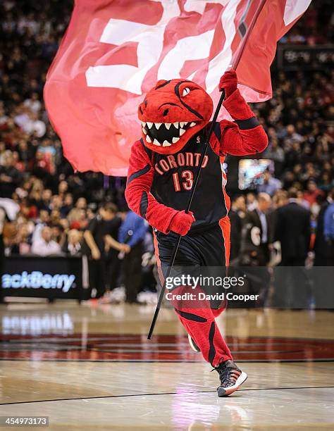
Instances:
[[[212,139],[220,140],[219,123],[217,126],[211,141]],[[186,208],[199,166],[199,159],[204,151],[205,133],[206,129],[200,130],[178,153],[164,155],[153,152],[151,154],[154,168],[151,194],[161,204],[178,211]],[[191,231],[202,229],[227,215],[224,187],[225,175],[223,176],[222,158],[209,144],[190,208],[196,219]]]

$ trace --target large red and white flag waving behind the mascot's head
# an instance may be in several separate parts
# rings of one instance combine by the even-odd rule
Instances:
[[[140,137],[137,106],[157,80],[194,80],[217,101],[219,78],[262,1],[75,0],[44,88],[73,168],[126,175]],[[276,42],[310,3],[265,1],[237,67],[247,101],[271,98]]]

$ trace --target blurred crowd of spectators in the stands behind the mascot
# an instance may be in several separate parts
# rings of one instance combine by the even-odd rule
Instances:
[[[84,232],[101,216],[100,206],[113,202],[125,211],[125,179],[74,173],[45,111],[45,76],[71,8],[65,0],[44,4],[5,0],[0,5],[0,197],[11,199],[17,208],[5,235],[7,254],[80,253],[83,242],[87,243]],[[312,3],[280,43],[330,43],[330,11],[328,0]],[[264,174],[255,194],[233,200],[232,218],[238,213],[235,226],[247,206],[249,211],[256,207],[257,192],[269,196],[268,209],[286,204],[289,192],[311,211],[316,232],[318,214],[334,185],[333,78],[333,70],[273,72],[273,99],[252,108],[269,137],[261,156],[273,160],[275,169]],[[115,231],[113,239],[120,239]],[[118,244],[120,254],[129,253],[121,241]],[[233,243],[232,252],[235,247],[240,251],[240,246]],[[106,244],[106,250],[110,248]]]

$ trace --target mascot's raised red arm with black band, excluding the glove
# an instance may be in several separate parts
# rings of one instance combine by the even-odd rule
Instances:
[[[268,145],[268,137],[247,102],[236,89],[223,103],[234,122],[223,120],[219,154],[245,156],[261,153]]]

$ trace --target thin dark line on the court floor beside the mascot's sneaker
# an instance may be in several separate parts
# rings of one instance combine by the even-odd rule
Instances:
[[[249,389],[239,389],[239,392],[246,391],[278,391],[284,389],[330,389],[334,386],[301,386],[301,387],[259,387]],[[106,398],[125,398],[126,396],[159,396],[159,395],[188,395],[188,394],[211,394],[216,392],[215,389],[210,391],[190,391],[180,394],[178,392],[155,392],[153,394],[121,394],[121,395],[102,395],[102,396],[79,396],[78,398],[58,398],[58,399],[39,399],[37,401],[16,401],[11,403],[0,403],[0,406],[10,406],[15,404],[33,404],[33,403],[49,403],[56,401],[78,401],[80,399],[106,399]]]

